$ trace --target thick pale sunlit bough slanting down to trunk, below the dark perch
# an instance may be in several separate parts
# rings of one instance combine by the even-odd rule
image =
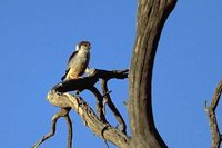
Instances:
[[[57,107],[71,107],[74,109],[83,122],[102,139],[111,141],[120,148],[127,148],[129,146],[130,137],[110,124],[101,121],[82,98],[73,97],[70,93],[58,95],[54,90],[51,90],[48,93],[48,100]]]

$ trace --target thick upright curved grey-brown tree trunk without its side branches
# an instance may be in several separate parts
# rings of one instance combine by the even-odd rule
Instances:
[[[139,0],[137,39],[129,73],[131,148],[165,148],[152,114],[152,69],[163,24],[176,0]]]

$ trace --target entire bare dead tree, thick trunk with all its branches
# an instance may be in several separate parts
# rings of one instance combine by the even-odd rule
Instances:
[[[60,107],[61,110],[52,118],[51,131],[42,137],[33,148],[56,132],[56,124],[60,117],[64,117],[69,126],[68,148],[72,145],[72,125],[69,111],[73,109],[80,115],[85,126],[97,136],[110,141],[120,148],[167,148],[155,128],[152,114],[152,70],[158,42],[164,22],[173,10],[176,0],[139,0],[137,18],[137,39],[131,59],[130,70],[100,70],[95,69],[89,77],[69,80],[56,85],[48,93],[48,100]],[[127,134],[127,126],[121,114],[115,108],[110,97],[108,81],[110,79],[129,78],[129,102],[127,108],[130,117],[131,136]],[[94,85],[101,81],[102,92]],[[83,98],[72,96],[69,91],[90,90],[97,99],[97,114]],[[221,90],[221,86],[220,86]],[[218,95],[220,96],[220,95]],[[216,97],[215,97],[216,98]],[[119,128],[113,127],[105,119],[104,105],[110,107],[115,116]],[[211,120],[215,110],[216,101],[205,107]],[[214,121],[214,119],[212,119]],[[215,126],[211,124],[212,135],[218,138],[220,146],[221,135]],[[214,147],[213,147],[214,148]]]

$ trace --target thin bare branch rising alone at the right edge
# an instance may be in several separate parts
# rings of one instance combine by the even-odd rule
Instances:
[[[212,142],[211,142],[212,148],[220,148],[220,145],[222,141],[221,134],[220,134],[220,130],[218,127],[216,115],[215,115],[215,109],[220,101],[221,93],[222,93],[222,81],[219,82],[219,85],[215,89],[215,92],[211,100],[211,105],[209,107],[206,107],[206,101],[204,105],[204,108],[205,108],[205,111],[208,114],[209,121],[210,121],[210,128],[211,128],[211,135],[212,135]]]

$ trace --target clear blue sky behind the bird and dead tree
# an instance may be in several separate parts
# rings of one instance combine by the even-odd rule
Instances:
[[[153,71],[153,111],[170,148],[210,147],[203,102],[210,102],[222,79],[221,8],[219,0],[179,1],[164,26]],[[137,1],[0,0],[1,147],[29,148],[49,131],[59,109],[46,100],[47,92],[60,81],[80,40],[92,43],[90,67],[129,68],[135,11]],[[128,80],[112,80],[109,87],[128,121]],[[92,95],[82,97],[94,107]],[[71,118],[73,147],[105,146],[74,111]],[[222,128],[221,117],[219,122]],[[56,136],[41,148],[65,146],[67,125],[60,119]]]

